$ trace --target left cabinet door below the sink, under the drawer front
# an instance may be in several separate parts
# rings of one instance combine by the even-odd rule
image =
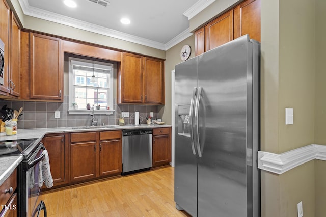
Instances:
[[[70,153],[72,182],[96,177],[96,142],[71,144]]]

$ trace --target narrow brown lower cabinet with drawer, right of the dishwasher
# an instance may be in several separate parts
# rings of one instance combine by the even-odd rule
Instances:
[[[171,128],[153,129],[153,167],[171,162]]]

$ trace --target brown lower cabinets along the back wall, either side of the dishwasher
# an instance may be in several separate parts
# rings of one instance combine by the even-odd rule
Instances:
[[[53,186],[66,186],[122,172],[121,130],[46,135]],[[171,162],[171,127],[153,128],[153,167]]]

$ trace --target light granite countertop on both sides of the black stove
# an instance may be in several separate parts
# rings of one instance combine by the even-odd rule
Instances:
[[[124,130],[124,129],[145,129],[171,127],[168,124],[152,124],[152,125],[125,125],[125,126],[104,126],[103,128],[83,129],[81,127],[58,127],[58,128],[39,128],[39,129],[18,129],[16,135],[6,135],[5,132],[0,133],[0,141],[22,140],[22,139],[42,139],[44,135],[50,133],[69,133],[69,132],[88,132],[88,131],[103,131],[103,130]],[[10,176],[14,169],[22,161],[22,156],[3,156],[0,157],[0,185]]]

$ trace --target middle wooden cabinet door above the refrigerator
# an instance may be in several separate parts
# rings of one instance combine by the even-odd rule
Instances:
[[[233,40],[233,10],[205,26],[206,50],[211,50]]]

